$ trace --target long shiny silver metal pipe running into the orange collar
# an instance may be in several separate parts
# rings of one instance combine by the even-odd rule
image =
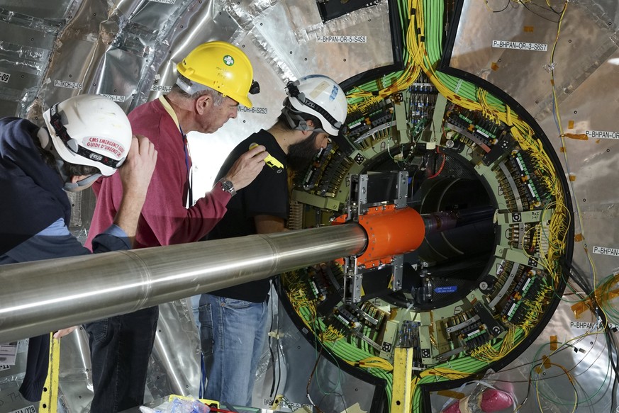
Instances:
[[[350,223],[0,266],[0,343],[364,251]]]

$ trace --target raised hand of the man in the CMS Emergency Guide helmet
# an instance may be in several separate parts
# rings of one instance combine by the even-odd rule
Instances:
[[[125,163],[118,169],[125,193],[145,197],[157,163],[155,145],[142,135],[133,135]]]

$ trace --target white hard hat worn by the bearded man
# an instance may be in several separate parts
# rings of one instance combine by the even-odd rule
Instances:
[[[344,91],[333,79],[322,74],[301,77],[288,82],[286,94],[284,109],[316,116],[325,132],[339,135],[346,120],[348,103]]]

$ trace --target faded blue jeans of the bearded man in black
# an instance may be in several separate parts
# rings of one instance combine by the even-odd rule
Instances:
[[[206,394],[235,406],[251,406],[256,370],[267,339],[267,302],[203,294],[202,341]]]

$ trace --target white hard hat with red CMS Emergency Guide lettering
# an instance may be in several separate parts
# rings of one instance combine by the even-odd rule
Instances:
[[[45,111],[43,119],[65,162],[95,166],[109,176],[127,157],[131,125],[123,109],[104,96],[68,98]]]

